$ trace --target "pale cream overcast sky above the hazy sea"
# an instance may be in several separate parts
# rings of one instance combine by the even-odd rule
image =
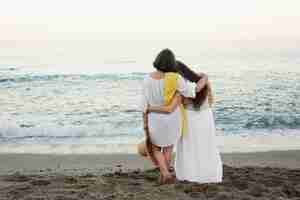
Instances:
[[[299,9],[298,0],[3,0],[0,30],[1,40],[164,36],[157,33],[174,38],[179,33],[213,39],[297,37]]]

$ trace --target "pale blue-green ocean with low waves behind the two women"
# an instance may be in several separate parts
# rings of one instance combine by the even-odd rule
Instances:
[[[226,141],[235,136],[247,138],[248,147],[257,143],[253,137],[272,141],[268,138],[282,136],[289,138],[285,144],[300,148],[295,143],[300,136],[297,52],[245,59],[220,56],[192,66],[207,72],[211,80],[224,151],[241,150],[236,149],[244,144],[241,140]],[[117,60],[102,66],[137,69],[139,64]],[[146,74],[86,73],[84,66],[74,71],[63,66],[0,65],[0,153],[134,153],[143,139],[139,102]],[[276,149],[281,141],[264,144]]]

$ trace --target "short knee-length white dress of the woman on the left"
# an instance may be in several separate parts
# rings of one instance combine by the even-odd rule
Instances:
[[[181,76],[177,81],[177,91],[185,97],[195,97],[196,84],[186,82]],[[150,106],[164,105],[164,79],[156,80],[147,75],[143,82],[142,111],[147,104]],[[166,147],[177,143],[181,135],[180,108],[172,113],[149,113],[148,126],[151,142],[159,147]]]

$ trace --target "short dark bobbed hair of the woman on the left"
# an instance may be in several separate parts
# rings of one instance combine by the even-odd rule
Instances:
[[[162,72],[177,72],[175,55],[170,49],[163,49],[159,52],[153,66]]]

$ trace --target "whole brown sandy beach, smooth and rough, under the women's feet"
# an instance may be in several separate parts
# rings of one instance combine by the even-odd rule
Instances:
[[[158,185],[134,154],[0,155],[0,199],[300,199],[300,151],[222,154],[220,184]]]

